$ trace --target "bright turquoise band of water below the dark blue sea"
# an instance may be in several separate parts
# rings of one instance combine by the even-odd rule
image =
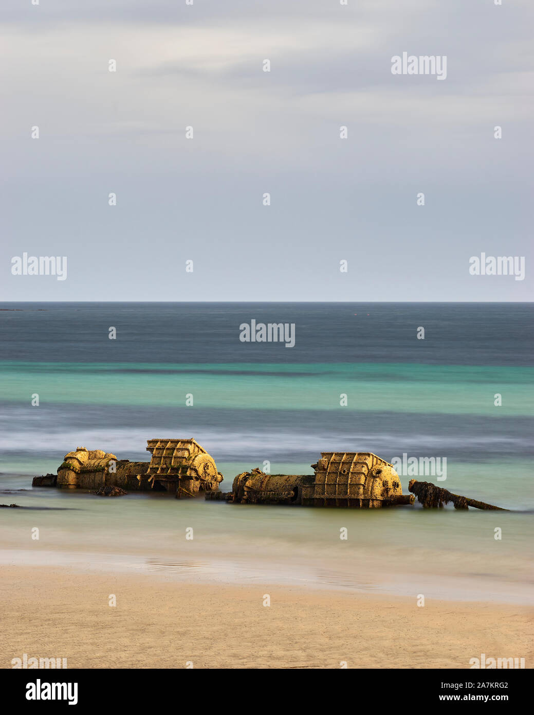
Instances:
[[[534,369],[402,363],[1,363],[4,400],[44,403],[534,417]],[[495,407],[494,394],[503,395]]]

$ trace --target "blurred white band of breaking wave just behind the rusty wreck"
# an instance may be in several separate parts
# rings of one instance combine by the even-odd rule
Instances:
[[[53,428],[39,432],[24,430],[0,436],[0,451],[4,455],[61,455],[77,446],[88,449],[103,449],[119,458],[149,460],[144,449],[152,438],[194,437],[209,453],[219,460],[315,459],[322,451],[372,451],[391,460],[409,455],[442,455],[469,460],[495,458],[506,455],[530,454],[528,440],[512,435],[501,438],[480,435],[416,434],[399,435],[388,432],[335,432],[317,430],[311,433],[287,430],[204,429],[169,430],[168,425],[139,428]],[[525,451],[526,450],[526,451]]]

